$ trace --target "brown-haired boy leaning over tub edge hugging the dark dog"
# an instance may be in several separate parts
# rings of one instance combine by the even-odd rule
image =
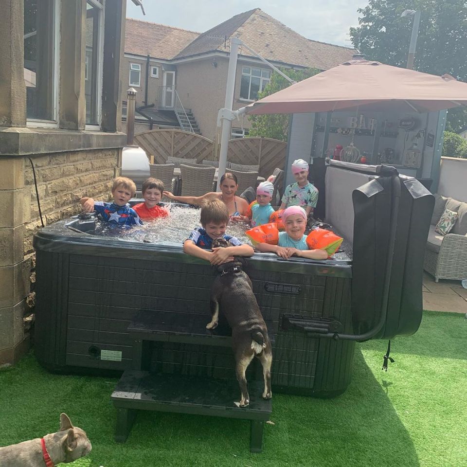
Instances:
[[[183,243],[185,253],[219,265],[233,261],[233,256],[251,256],[253,249],[238,238],[225,233],[229,222],[229,211],[220,199],[208,201],[201,208],[201,226],[192,231]],[[231,246],[213,248],[213,240],[224,238]]]

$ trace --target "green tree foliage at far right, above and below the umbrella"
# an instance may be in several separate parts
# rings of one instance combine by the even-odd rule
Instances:
[[[369,0],[358,10],[359,27],[350,28],[354,47],[368,59],[405,67],[413,24],[400,17],[406,9],[421,12],[414,69],[467,82],[466,0]],[[465,126],[466,109],[450,110],[448,128]]]

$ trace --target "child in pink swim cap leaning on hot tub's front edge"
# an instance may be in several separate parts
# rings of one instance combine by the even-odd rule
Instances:
[[[273,252],[284,259],[299,256],[308,259],[327,259],[327,251],[310,250],[306,244],[306,212],[300,206],[290,206],[282,213],[285,232],[279,232],[277,245],[258,243],[256,249],[263,252]]]

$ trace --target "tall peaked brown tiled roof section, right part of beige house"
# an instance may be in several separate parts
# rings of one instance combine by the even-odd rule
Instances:
[[[174,58],[229,50],[224,37],[236,36],[264,58],[327,70],[349,60],[353,49],[307,39],[259,8],[241,13],[199,35]],[[247,49],[240,54],[252,56]]]

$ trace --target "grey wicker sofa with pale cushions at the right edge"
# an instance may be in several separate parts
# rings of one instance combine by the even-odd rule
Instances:
[[[439,279],[467,279],[467,203],[435,195],[423,268],[435,282]],[[445,208],[458,213],[454,227],[446,235],[434,229]]]

